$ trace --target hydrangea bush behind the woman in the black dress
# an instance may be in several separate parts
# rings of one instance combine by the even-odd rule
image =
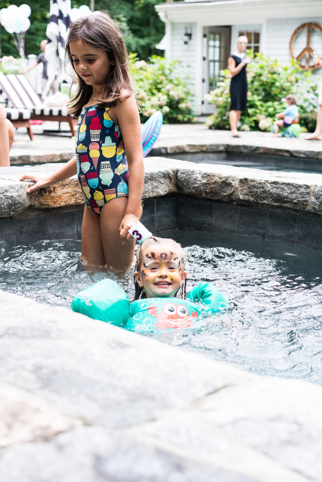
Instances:
[[[317,84],[311,71],[304,72],[296,61],[290,66],[281,67],[277,60],[264,54],[252,56],[247,67],[248,100],[247,110],[241,113],[241,131],[269,131],[275,115],[286,107],[282,102],[287,94],[294,94],[301,115],[300,125],[304,131],[313,132],[318,107]],[[229,129],[231,74],[223,71],[224,82],[206,95],[206,100],[214,104],[215,112],[208,119],[210,129]]]

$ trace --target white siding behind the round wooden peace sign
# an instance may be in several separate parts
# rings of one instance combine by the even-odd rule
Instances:
[[[267,19],[266,22],[266,45],[263,46],[264,54],[275,59],[277,58],[281,65],[289,65],[291,55],[289,51],[290,40],[294,30],[301,24],[306,22],[315,22],[319,25],[322,23],[321,17],[303,17],[303,18],[281,18]],[[314,32],[314,33],[313,33]],[[311,47],[318,54],[322,55],[322,35],[316,30],[312,32]],[[296,38],[293,46],[293,54],[298,55],[307,44],[307,30],[302,31]],[[322,68],[314,70],[317,75],[322,75]]]

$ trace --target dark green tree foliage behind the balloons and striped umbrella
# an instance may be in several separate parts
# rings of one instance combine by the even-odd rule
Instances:
[[[164,35],[164,23],[159,19],[154,5],[165,0],[96,0],[96,10],[107,10],[116,20],[124,37],[128,51],[136,52],[142,59],[157,53],[155,45]],[[21,5],[27,3],[31,8],[30,28],[25,36],[25,51],[28,54],[39,54],[40,42],[45,39],[46,27],[49,18],[49,0],[12,0],[0,1],[0,9],[7,8],[10,4]],[[90,5],[90,0],[71,0],[71,7]],[[159,52],[160,53],[160,52]],[[1,55],[18,53],[14,46],[11,34],[1,27]]]

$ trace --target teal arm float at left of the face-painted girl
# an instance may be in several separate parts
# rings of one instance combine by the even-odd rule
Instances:
[[[71,309],[77,313],[121,326],[129,318],[130,302],[126,292],[112,280],[101,280],[78,293]]]

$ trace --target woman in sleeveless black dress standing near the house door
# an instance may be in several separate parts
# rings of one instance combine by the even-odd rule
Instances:
[[[236,51],[228,58],[228,68],[231,73],[230,81],[230,113],[229,123],[232,137],[240,137],[237,132],[237,124],[242,110],[247,107],[247,76],[246,66],[250,59],[245,55],[247,37],[238,37]]]

